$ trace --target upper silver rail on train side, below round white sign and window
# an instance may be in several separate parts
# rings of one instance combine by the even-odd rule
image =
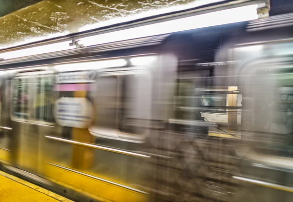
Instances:
[[[135,156],[135,157],[150,158],[150,156],[148,156],[148,155],[139,154],[139,153],[135,153],[135,152],[131,152],[131,151],[126,151],[126,150],[122,150],[122,149],[105,147],[105,146],[101,146],[101,145],[97,145],[97,144],[90,144],[90,143],[81,142],[81,141],[68,140],[68,139],[54,137],[54,136],[47,136],[46,135],[45,137],[48,139],[51,139],[51,140],[63,141],[63,142],[72,143],[72,144],[76,144],[76,145],[91,147],[91,148],[95,148],[95,149],[101,149],[104,151],[110,151],[110,152],[114,152],[114,153],[125,154],[125,155]]]

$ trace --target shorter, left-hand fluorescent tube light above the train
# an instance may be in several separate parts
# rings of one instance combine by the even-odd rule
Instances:
[[[0,58],[3,58],[4,60],[13,59],[13,58],[21,58],[26,56],[32,56],[32,55],[39,55],[43,53],[51,53],[61,50],[68,50],[68,49],[74,49],[75,46],[69,46],[69,43],[71,41],[63,41],[58,43],[52,43],[32,48],[24,48],[16,51],[9,51],[9,52],[3,52],[0,53]]]

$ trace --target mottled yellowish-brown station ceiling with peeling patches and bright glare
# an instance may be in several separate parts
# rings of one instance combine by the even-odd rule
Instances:
[[[0,0],[0,49],[215,1]]]

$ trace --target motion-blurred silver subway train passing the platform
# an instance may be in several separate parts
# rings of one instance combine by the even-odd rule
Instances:
[[[292,19],[0,61],[1,169],[74,201],[292,201]]]

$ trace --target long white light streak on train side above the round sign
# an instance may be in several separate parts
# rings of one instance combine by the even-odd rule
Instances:
[[[90,62],[82,62],[82,63],[67,63],[67,64],[59,64],[54,66],[59,72],[67,72],[67,71],[79,71],[79,70],[90,70],[90,69],[101,69],[107,67],[122,67],[127,64],[127,61],[124,59],[113,59],[113,60],[105,60],[105,61],[90,61]]]

